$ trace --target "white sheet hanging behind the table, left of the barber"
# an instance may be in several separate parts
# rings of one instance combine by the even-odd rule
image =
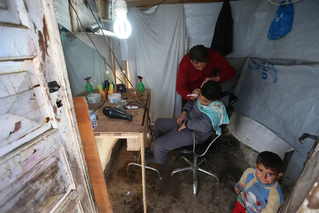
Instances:
[[[130,8],[132,34],[127,39],[128,64],[132,82],[143,76],[151,88],[151,118],[173,117],[178,64],[185,54],[183,4],[165,4],[141,11]],[[124,57],[123,57],[124,58]],[[179,114],[180,114],[179,106]],[[179,115],[178,114],[178,115]]]

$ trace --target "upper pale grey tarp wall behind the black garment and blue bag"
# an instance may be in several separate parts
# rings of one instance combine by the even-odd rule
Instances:
[[[184,4],[189,47],[210,47],[222,2]],[[290,33],[278,40],[267,38],[278,6],[267,0],[231,1],[234,19],[233,53],[227,57],[263,57],[319,62],[319,1],[294,3]]]

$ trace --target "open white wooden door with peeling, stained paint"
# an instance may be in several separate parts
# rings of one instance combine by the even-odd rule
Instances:
[[[0,0],[0,38],[0,212],[96,212],[52,0]]]

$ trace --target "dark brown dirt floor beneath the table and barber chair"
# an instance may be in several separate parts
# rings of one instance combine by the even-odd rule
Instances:
[[[249,167],[249,163],[240,148],[220,145],[219,152],[212,152],[206,154],[208,162],[200,167],[215,172],[221,182],[218,184],[214,177],[198,172],[197,196],[193,196],[192,172],[181,171],[173,177],[170,175],[174,168],[188,166],[187,162],[169,158],[166,164],[158,165],[162,180],[155,171],[146,169],[147,211],[231,212],[237,199],[234,184]],[[192,155],[186,157],[193,160]],[[123,142],[107,178],[113,212],[143,212],[141,168],[131,165],[130,176],[127,176],[126,166],[132,161],[136,161],[134,152],[127,151],[126,143]],[[152,163],[147,165],[154,166]]]

